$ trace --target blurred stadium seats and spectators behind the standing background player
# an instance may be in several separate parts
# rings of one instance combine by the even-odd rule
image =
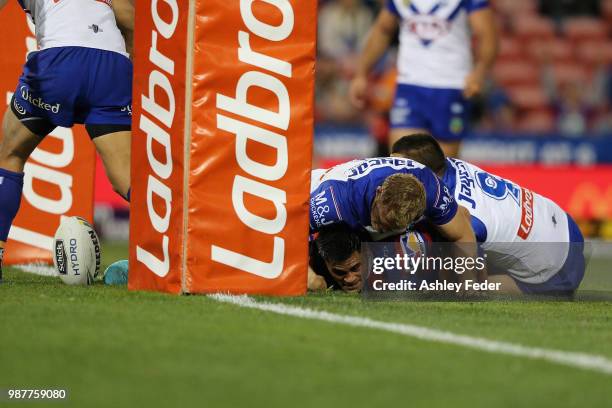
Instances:
[[[475,133],[612,136],[612,0],[491,0],[499,55],[473,101]],[[396,47],[371,75],[368,108],[347,99],[360,47],[384,0],[322,0],[316,119],[387,137]],[[384,143],[382,143],[384,144]],[[382,146],[381,146],[382,147]]]

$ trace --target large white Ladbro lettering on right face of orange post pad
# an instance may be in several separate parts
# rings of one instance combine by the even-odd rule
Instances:
[[[235,175],[232,185],[234,211],[244,227],[261,233],[262,239],[272,241],[272,254],[261,256],[264,259],[272,258],[272,261],[264,262],[217,245],[211,246],[211,259],[253,275],[275,279],[285,267],[285,240],[279,235],[287,223],[287,193],[272,184],[284,180],[289,166],[286,132],[290,125],[292,106],[287,84],[292,77],[293,65],[290,61],[277,59],[265,52],[273,47],[272,44],[281,49],[285,46],[284,41],[293,32],[295,16],[293,6],[288,0],[267,1],[282,16],[278,25],[270,25],[258,20],[252,9],[253,3],[240,2],[240,16],[249,31],[239,30],[235,44],[238,60],[247,64],[248,70],[238,79],[235,96],[217,93],[217,128],[236,136],[235,159],[241,168],[241,174]],[[252,36],[267,41],[266,47],[259,50],[251,48]],[[253,89],[270,92],[277,101],[278,109],[273,111],[258,106],[257,102],[261,100],[257,101],[257,98],[249,95]],[[226,113],[240,119],[226,116]],[[256,125],[242,119],[253,121]],[[249,140],[269,147],[274,152],[271,155],[274,156],[273,164],[261,163],[249,157]],[[264,217],[249,210],[245,204],[247,195],[272,204],[273,217],[270,217],[270,214]]]

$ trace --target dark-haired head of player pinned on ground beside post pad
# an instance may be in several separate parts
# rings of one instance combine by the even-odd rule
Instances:
[[[361,280],[361,239],[346,224],[332,224],[319,230],[316,245],[327,270],[340,289],[358,292]]]

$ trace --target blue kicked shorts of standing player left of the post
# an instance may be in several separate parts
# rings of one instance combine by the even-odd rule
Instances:
[[[57,47],[32,52],[15,91],[20,120],[52,125],[130,125],[132,62],[112,51]],[[27,120],[27,119],[26,119]]]

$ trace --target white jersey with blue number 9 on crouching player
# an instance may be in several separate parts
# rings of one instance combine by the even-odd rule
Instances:
[[[472,215],[490,265],[527,283],[545,282],[561,269],[569,228],[552,200],[458,159],[447,159],[443,180]]]

